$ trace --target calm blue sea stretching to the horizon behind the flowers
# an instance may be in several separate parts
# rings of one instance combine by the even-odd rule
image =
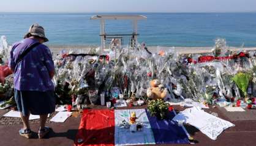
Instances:
[[[138,41],[148,46],[214,46],[216,38],[225,38],[228,46],[256,46],[256,13],[0,13],[0,35],[12,44],[31,24],[39,23],[45,27],[48,44],[99,45],[100,21],[90,18],[108,14],[147,16],[138,21]],[[130,34],[132,21],[109,20],[105,30]],[[129,37],[124,36],[124,44]]]

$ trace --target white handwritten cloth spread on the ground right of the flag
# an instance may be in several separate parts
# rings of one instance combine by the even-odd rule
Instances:
[[[225,129],[235,126],[233,123],[206,113],[197,107],[187,108],[184,111],[181,111],[173,118],[173,120],[189,123],[213,140],[216,140],[217,136],[219,136]]]

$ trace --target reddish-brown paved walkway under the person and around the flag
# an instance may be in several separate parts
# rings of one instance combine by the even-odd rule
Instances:
[[[104,107],[96,107],[104,108]],[[183,110],[180,106],[175,106],[175,109]],[[217,108],[210,108],[205,110],[207,112],[211,111],[217,113],[220,118],[228,120],[227,117],[224,117],[222,113]],[[0,112],[1,113],[1,112]],[[0,115],[1,117],[1,115]],[[73,139],[77,134],[78,127],[80,123],[80,117],[69,117],[64,123],[48,123],[48,126],[53,128],[53,131],[49,133],[46,139],[37,139],[36,133],[34,134],[33,139],[26,139],[19,136],[18,130],[21,128],[21,125],[12,125],[12,126],[0,126],[0,145],[73,145]],[[256,121],[239,121],[232,122],[236,126],[228,128],[219,137],[216,141],[212,141],[205,134],[202,134],[196,128],[187,125],[187,131],[191,136],[197,141],[195,145],[255,145],[256,144]],[[38,125],[31,125],[32,131],[37,132]]]

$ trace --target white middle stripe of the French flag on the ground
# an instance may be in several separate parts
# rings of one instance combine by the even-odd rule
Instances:
[[[143,123],[143,130],[135,133],[129,129],[119,127],[123,120],[129,122],[130,113],[135,112],[138,119],[136,121]],[[115,145],[146,145],[156,144],[154,134],[146,115],[145,109],[118,109],[115,110]]]

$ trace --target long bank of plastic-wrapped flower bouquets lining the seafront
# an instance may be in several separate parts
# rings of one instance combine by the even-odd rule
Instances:
[[[4,46],[5,51],[8,48]],[[105,55],[97,52],[99,48],[69,50],[54,57],[58,104],[100,104],[102,95],[108,102],[120,94],[148,102],[146,93],[153,79],[167,89],[165,100],[213,103],[256,96],[255,51],[232,52],[221,38],[210,54],[178,54],[174,47],[150,52],[145,43],[135,49],[112,45]],[[2,92],[7,92],[6,86],[0,85]]]

